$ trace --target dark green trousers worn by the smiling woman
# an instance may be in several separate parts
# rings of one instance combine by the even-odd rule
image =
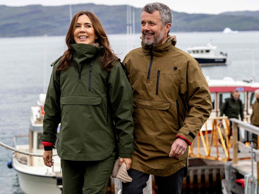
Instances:
[[[104,194],[115,155],[100,161],[61,159],[63,194]]]

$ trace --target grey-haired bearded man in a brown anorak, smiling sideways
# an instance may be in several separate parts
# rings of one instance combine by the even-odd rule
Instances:
[[[149,175],[159,193],[181,193],[188,151],[210,116],[211,96],[198,62],[175,47],[170,36],[170,8],[145,5],[141,14],[142,42],[123,63],[133,89],[135,152],[122,193],[142,193]]]

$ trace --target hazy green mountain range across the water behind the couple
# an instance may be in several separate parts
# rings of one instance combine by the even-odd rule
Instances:
[[[126,33],[126,5],[72,5],[72,14],[93,11],[100,19],[107,34]],[[135,12],[135,32],[140,33],[141,9]],[[171,32],[259,30],[259,17],[231,14],[187,14],[173,11]],[[0,37],[66,35],[70,23],[69,5],[29,5],[9,7],[0,5]]]

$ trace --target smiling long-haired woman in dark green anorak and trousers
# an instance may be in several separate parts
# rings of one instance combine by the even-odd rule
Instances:
[[[63,56],[52,63],[44,105],[44,163],[53,165],[52,148],[61,123],[57,153],[63,193],[105,193],[116,155],[130,168],[132,90],[93,13],[75,14],[66,44]]]

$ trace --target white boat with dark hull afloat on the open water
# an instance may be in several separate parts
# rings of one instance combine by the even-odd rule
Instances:
[[[214,50],[216,46],[212,46],[210,43],[207,46],[201,47],[189,47],[187,52],[198,61],[200,66],[207,65],[226,65],[227,53],[220,52],[216,55]]]

